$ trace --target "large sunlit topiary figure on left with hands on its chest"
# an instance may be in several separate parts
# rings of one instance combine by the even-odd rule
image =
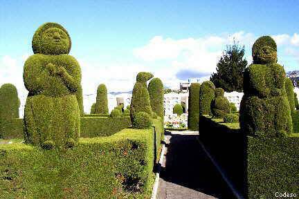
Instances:
[[[44,23],[33,36],[33,53],[24,64],[29,91],[24,111],[27,143],[46,149],[72,146],[80,136],[80,109],[76,92],[81,69],[71,57],[71,38],[57,23]]]

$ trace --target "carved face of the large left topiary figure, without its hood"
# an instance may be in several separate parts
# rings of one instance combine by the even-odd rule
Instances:
[[[60,28],[48,28],[42,32],[42,52],[44,54],[66,54],[69,50],[69,37]]]

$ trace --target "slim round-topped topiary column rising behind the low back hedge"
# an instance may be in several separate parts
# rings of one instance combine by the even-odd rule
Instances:
[[[95,113],[96,114],[107,114],[107,113],[109,113],[107,88],[106,88],[105,84],[100,84],[98,86]]]

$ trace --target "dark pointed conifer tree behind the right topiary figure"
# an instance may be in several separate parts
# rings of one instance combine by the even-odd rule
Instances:
[[[234,41],[233,46],[226,46],[226,50],[217,63],[217,73],[213,73],[210,81],[218,88],[224,88],[226,92],[242,92],[243,73],[247,66],[244,58],[244,46],[240,47]]]

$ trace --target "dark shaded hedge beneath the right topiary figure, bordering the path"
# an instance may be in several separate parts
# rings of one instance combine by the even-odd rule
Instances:
[[[253,138],[239,124],[203,115],[200,140],[244,198],[299,192],[299,137]],[[296,135],[296,134],[292,134]]]

